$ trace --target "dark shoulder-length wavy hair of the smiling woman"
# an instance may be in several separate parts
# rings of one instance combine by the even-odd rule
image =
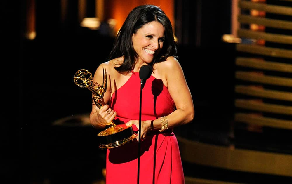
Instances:
[[[129,72],[134,69],[135,60],[138,59],[138,54],[135,52],[132,35],[136,33],[143,25],[157,21],[160,22],[164,29],[164,43],[159,54],[153,59],[151,65],[161,61],[165,61],[167,57],[174,56],[177,58],[173,28],[169,18],[158,6],[141,5],[135,7],[127,16],[124,24],[119,30],[112,51],[109,54],[109,60],[124,56],[124,62],[115,69],[118,72]]]

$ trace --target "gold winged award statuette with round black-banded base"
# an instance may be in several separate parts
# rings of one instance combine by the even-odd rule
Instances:
[[[93,93],[92,103],[98,108],[103,107],[103,96],[107,90],[107,71],[103,69],[103,83],[99,85],[97,83],[92,84],[93,77],[88,70],[78,70],[74,75],[74,82],[81,88],[88,88]],[[132,141],[136,135],[133,133],[132,125],[126,126],[125,124],[112,124],[109,128],[98,133],[99,147],[100,148],[113,148],[124,145]]]

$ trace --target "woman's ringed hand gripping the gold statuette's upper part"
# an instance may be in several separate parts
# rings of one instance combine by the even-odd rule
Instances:
[[[116,117],[117,112],[109,108],[109,105],[104,105],[101,109],[95,106],[96,118],[98,126],[105,127],[110,125],[114,117]]]

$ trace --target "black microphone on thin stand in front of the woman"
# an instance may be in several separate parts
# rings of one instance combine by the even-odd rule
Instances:
[[[141,79],[141,88],[140,88],[140,110],[139,110],[139,133],[138,133],[138,171],[137,171],[137,184],[139,184],[140,177],[140,147],[141,147],[141,111],[142,111],[142,89],[144,88],[144,84],[147,79],[152,74],[152,67],[149,65],[141,66],[139,70],[139,77]]]

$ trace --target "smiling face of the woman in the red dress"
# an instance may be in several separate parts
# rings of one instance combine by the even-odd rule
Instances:
[[[152,21],[138,29],[132,36],[132,42],[139,62],[151,63],[163,46],[164,27]]]

